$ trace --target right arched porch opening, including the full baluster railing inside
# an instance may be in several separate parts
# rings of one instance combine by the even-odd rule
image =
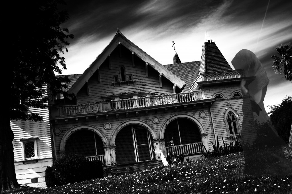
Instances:
[[[164,131],[167,154],[198,154],[202,152],[202,140],[198,126],[190,119],[171,121]]]

